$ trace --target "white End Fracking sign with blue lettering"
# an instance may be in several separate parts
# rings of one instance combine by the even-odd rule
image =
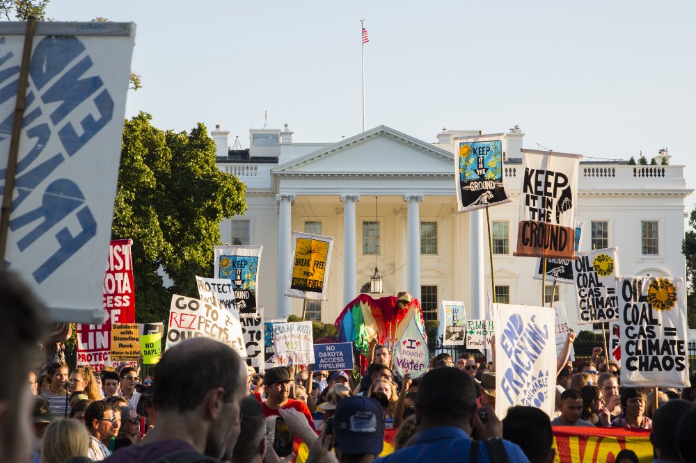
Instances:
[[[555,316],[548,307],[495,304],[496,415],[529,405],[551,416],[556,391]]]

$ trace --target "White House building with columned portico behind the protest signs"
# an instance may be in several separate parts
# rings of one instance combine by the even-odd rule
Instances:
[[[381,295],[409,291],[427,319],[438,318],[442,300],[464,301],[468,316],[483,318],[492,291],[488,221],[484,211],[457,213],[454,189],[456,138],[478,134],[443,129],[431,144],[380,126],[338,143],[295,143],[286,124],[282,131],[253,129],[249,149],[230,149],[230,132],[212,131],[217,165],[244,181],[248,204],[244,216],[221,223],[222,241],[263,245],[258,300],[267,316],[301,314],[303,300],[283,295],[291,235],[299,231],[335,238],[329,300],[310,302],[310,319],[333,323],[347,302],[369,292],[375,269]],[[519,127],[504,135],[513,201],[489,209],[494,277],[498,302],[540,305],[545,294],[551,298],[551,282],[544,289],[532,279],[537,259],[513,256],[523,136]],[[681,241],[691,192],[681,165],[581,162],[580,249],[619,247],[624,275],[686,277]],[[571,288],[560,284],[555,296],[577,331]]]

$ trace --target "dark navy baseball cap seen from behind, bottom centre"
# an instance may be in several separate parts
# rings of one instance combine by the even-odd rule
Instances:
[[[379,455],[384,445],[382,407],[365,396],[341,400],[333,414],[333,434],[346,455]]]

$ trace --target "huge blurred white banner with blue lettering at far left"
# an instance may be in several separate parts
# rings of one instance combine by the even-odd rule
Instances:
[[[26,23],[0,28],[4,188]],[[6,266],[59,321],[101,323],[135,25],[39,22],[33,38]]]

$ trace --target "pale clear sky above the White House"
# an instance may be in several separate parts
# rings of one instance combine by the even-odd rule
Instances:
[[[336,142],[367,122],[426,142],[507,131],[525,147],[638,159],[667,147],[696,187],[696,2],[52,0],[55,20],[136,23],[126,116]],[[689,141],[692,140],[692,141]],[[696,195],[687,200],[693,209]]]

